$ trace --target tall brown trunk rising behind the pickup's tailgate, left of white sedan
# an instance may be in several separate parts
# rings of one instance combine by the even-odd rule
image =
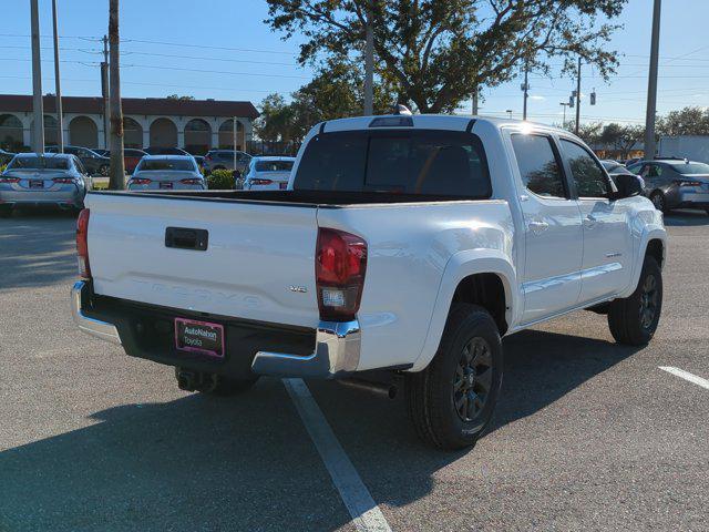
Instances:
[[[109,188],[122,191],[125,188],[125,164],[123,162],[119,0],[110,0],[109,2],[109,43],[111,44],[111,175]]]

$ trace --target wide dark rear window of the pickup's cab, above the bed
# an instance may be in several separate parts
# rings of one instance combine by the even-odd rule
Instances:
[[[438,130],[316,135],[298,165],[294,188],[463,198],[492,195],[480,139]]]

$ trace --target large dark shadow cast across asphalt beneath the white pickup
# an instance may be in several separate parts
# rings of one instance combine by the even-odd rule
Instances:
[[[480,468],[490,458],[485,453],[495,452],[484,440],[494,441],[501,429],[634,352],[600,339],[538,330],[506,339],[501,403],[490,432],[472,451],[440,452],[420,443],[401,397],[388,401],[335,382],[309,387],[386,514],[387,507],[427,497],[434,474],[455,461]],[[236,398],[189,395],[115,407],[92,419],[95,424],[0,453],[0,530],[349,526],[278,380],[263,379]],[[460,489],[470,495],[475,488]]]

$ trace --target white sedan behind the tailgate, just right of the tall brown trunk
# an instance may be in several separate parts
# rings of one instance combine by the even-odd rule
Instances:
[[[129,191],[204,191],[206,184],[192,155],[144,155],[129,180]]]

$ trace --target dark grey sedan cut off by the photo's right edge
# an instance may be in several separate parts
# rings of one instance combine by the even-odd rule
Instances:
[[[709,164],[662,158],[628,166],[645,180],[645,194],[655,208],[701,208],[709,214]]]

